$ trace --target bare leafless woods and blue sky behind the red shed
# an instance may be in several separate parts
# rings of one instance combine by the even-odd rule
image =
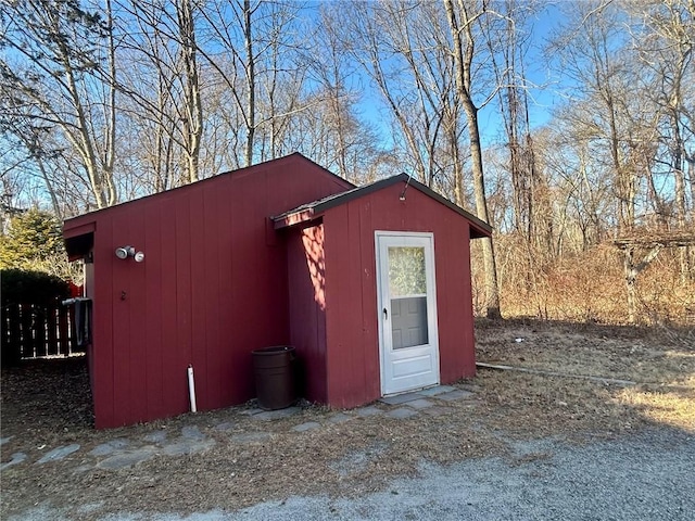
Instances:
[[[489,221],[480,314],[692,325],[694,41],[695,0],[2,0],[3,240],[299,151]]]

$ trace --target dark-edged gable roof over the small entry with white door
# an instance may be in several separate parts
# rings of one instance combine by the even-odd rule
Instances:
[[[404,183],[403,191],[407,189],[407,187],[413,187],[414,189],[422,192],[425,195],[433,199],[440,204],[443,204],[450,209],[453,209],[458,215],[468,219],[471,224],[471,239],[478,239],[482,237],[492,236],[492,227],[479,219],[475,215],[466,212],[464,208],[453,203],[448,199],[440,195],[431,188],[422,185],[421,182],[413,179],[407,174],[399,174],[396,176],[388,177],[386,179],[378,180],[372,182],[371,185],[366,185],[364,187],[353,188],[351,190],[337,193],[333,195],[328,195],[327,198],[319,199],[317,201],[313,201],[311,203],[302,204],[296,208],[285,212],[280,215],[273,216],[271,219],[275,223],[275,229],[287,228],[289,226],[294,226],[300,223],[305,223],[308,220],[316,219],[320,217],[324,212],[334,206],[339,206],[341,204],[345,204],[355,199],[363,198],[369,193],[383,190],[387,187]]]

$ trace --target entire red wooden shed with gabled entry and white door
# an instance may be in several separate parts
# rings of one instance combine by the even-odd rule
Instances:
[[[475,374],[469,239],[490,227],[405,175],[355,188],[300,154],[64,224],[91,298],[97,428],[254,396],[291,344],[305,396],[354,407]]]

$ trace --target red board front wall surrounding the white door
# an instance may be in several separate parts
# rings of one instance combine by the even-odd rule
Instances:
[[[375,230],[434,234],[440,376],[475,374],[468,221],[417,190],[387,187],[324,215],[328,403],[354,407],[380,396]]]

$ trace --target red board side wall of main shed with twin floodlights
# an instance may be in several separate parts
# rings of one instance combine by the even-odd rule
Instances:
[[[290,342],[282,239],[267,218],[351,188],[300,155],[72,219],[93,229],[92,391],[97,428],[254,395],[251,351]],[[271,239],[271,240],[269,240]],[[114,251],[134,245],[143,263]]]

